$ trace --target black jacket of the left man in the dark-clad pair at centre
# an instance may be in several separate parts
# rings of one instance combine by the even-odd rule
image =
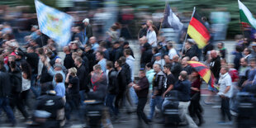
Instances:
[[[118,92],[118,84],[117,82],[117,72],[116,70],[112,69],[108,73],[108,86],[107,86],[107,92],[110,94],[117,94]]]

